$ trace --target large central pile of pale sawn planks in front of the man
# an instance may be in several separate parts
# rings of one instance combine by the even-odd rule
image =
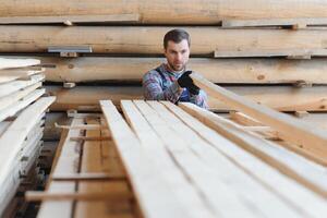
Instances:
[[[262,125],[245,128],[192,104],[120,105],[123,114],[112,101],[101,100],[104,116],[75,113],[70,125],[61,126],[65,134],[48,189],[26,194],[43,202],[38,217],[55,211],[62,217],[326,213],[325,168],[258,134]]]

